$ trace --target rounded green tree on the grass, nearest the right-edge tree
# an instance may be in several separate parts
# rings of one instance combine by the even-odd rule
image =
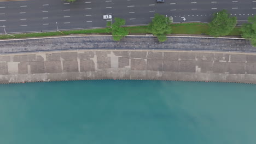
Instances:
[[[209,23],[209,34],[213,37],[228,35],[236,25],[236,17],[230,17],[226,10],[213,14],[213,20]]]

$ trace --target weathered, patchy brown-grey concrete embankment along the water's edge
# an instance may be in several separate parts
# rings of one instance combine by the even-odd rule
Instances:
[[[256,53],[77,50],[0,56],[0,83],[98,79],[256,83]]]

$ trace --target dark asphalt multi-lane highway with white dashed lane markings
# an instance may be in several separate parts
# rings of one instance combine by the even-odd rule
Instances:
[[[173,17],[174,22],[210,22],[212,14],[222,9],[238,21],[246,21],[256,14],[256,0],[0,1],[0,33],[4,33],[3,26],[7,33],[104,27],[106,14],[125,19],[126,25],[147,24],[155,13]]]

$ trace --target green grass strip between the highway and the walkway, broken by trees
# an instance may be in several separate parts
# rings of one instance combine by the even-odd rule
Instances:
[[[149,34],[148,26],[134,26],[126,27],[130,34],[141,33]],[[208,35],[208,23],[177,23],[172,24],[172,34],[206,34]],[[16,38],[34,38],[34,37],[51,37],[69,34],[109,34],[108,28],[98,29],[82,29],[72,31],[61,31],[61,32],[40,32],[40,33],[22,33],[10,35],[0,35],[0,39],[16,39]],[[229,36],[240,36],[240,28],[235,27]]]

